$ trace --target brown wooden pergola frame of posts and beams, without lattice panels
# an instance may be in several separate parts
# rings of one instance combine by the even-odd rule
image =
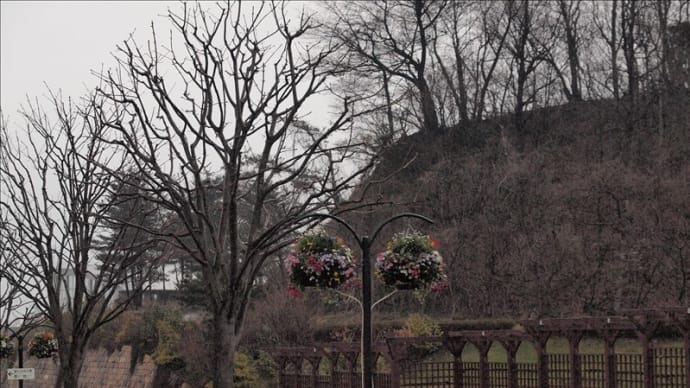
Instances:
[[[550,355],[547,354],[546,345],[550,338],[561,337],[568,341],[568,385],[572,388],[583,388],[583,368],[579,345],[585,336],[594,336],[600,338],[604,345],[604,386],[615,388],[617,377],[616,341],[623,336],[636,336],[642,347],[644,387],[656,388],[655,373],[657,368],[655,366],[653,339],[663,326],[674,328],[683,338],[682,358],[684,364],[683,369],[680,370],[684,373],[676,373],[676,376],[680,378],[681,374],[684,375],[685,386],[690,387],[690,308],[621,310],[612,316],[531,319],[522,320],[518,323],[519,326],[512,330],[463,330],[451,331],[441,337],[387,338],[385,343],[378,343],[374,346],[375,359],[379,357],[386,359],[391,366],[390,387],[400,387],[402,372],[413,366],[410,350],[415,345],[435,343],[445,347],[453,355],[453,386],[462,388],[463,374],[466,372],[463,369],[465,363],[462,361],[462,354],[466,346],[472,344],[479,352],[479,388],[491,388],[488,354],[491,347],[498,343],[505,349],[507,356],[507,387],[517,388],[520,371],[518,370],[516,355],[523,343],[529,343],[534,347],[537,354],[537,386],[548,388]],[[281,371],[289,362],[296,366],[304,360],[309,362],[312,365],[312,373],[314,373],[313,382],[316,384],[316,370],[323,357],[329,359],[331,368],[335,368],[338,359],[342,357],[346,360],[348,368],[356,371],[359,351],[359,345],[356,343],[327,343],[314,347],[286,348],[278,352],[274,350],[272,353],[281,364]],[[476,371],[476,369],[474,370]],[[534,369],[531,373],[534,373]],[[476,386],[475,384],[473,383],[473,386]],[[313,387],[316,386],[313,385]]]

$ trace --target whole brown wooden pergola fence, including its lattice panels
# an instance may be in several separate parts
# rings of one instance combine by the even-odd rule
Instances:
[[[656,347],[660,325],[672,325],[683,347]],[[690,387],[690,309],[635,310],[626,316],[544,319],[520,322],[521,330],[458,331],[443,337],[388,338],[374,346],[374,386],[380,388],[688,388]],[[636,334],[640,354],[615,353],[625,333]],[[603,354],[580,354],[585,334],[597,335]],[[552,335],[568,340],[569,352],[548,354]],[[523,342],[536,350],[536,362],[516,361]],[[506,362],[489,362],[495,343]],[[415,362],[415,346],[434,344],[453,361]],[[479,351],[479,362],[463,360],[467,344]],[[359,344],[328,343],[312,347],[273,349],[283,388],[360,388]]]

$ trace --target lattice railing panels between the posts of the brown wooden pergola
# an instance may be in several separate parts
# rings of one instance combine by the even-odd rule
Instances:
[[[657,348],[654,355],[654,387],[684,388],[688,360],[683,348]],[[603,354],[580,354],[582,388],[605,388],[605,357]],[[644,359],[641,354],[616,354],[616,383],[618,388],[644,388]],[[549,388],[571,388],[572,370],[569,354],[548,355]],[[519,388],[539,388],[536,363],[516,363],[515,381]],[[507,362],[488,363],[489,387],[510,388],[510,368]],[[481,388],[479,362],[421,362],[401,368],[398,387],[401,388]],[[375,387],[395,388],[392,372],[377,373]],[[334,371],[328,375],[301,374],[293,369],[280,374],[281,388],[359,388],[358,372]]]

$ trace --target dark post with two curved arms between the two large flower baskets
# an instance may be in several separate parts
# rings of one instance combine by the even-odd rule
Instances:
[[[371,279],[371,259],[369,257],[371,246],[376,240],[381,230],[391,222],[400,218],[417,218],[433,224],[427,217],[415,213],[400,213],[394,215],[379,224],[374,232],[369,236],[360,237],[357,232],[340,217],[330,214],[307,214],[301,219],[320,218],[330,219],[343,225],[357,241],[362,251],[362,388],[372,388],[374,386],[374,365],[372,356],[372,333],[371,333],[371,310],[372,310],[372,279]]]

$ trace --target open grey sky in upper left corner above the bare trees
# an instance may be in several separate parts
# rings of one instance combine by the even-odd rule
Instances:
[[[91,70],[112,66],[115,46],[136,30],[147,38],[167,1],[0,1],[0,104],[16,122],[26,96],[44,82],[78,97],[95,85]]]

